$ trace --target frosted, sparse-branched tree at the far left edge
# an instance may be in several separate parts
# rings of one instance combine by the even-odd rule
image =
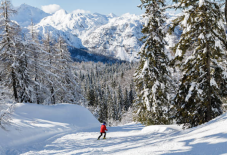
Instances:
[[[0,77],[4,85],[13,88],[13,96],[19,101],[17,83],[18,77],[16,69],[18,67],[18,51],[16,45],[19,41],[19,26],[10,20],[10,17],[16,13],[9,0],[4,0],[0,5],[0,61],[3,64],[3,70]]]

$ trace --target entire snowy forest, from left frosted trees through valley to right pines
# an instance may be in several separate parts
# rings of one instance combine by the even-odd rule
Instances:
[[[73,59],[60,34],[54,40],[46,30],[41,38],[32,21],[29,32],[22,31],[10,20],[16,13],[11,2],[2,1],[2,99],[79,104],[109,125],[137,121],[191,128],[216,118],[227,97],[224,3],[174,2],[177,5],[167,6],[164,0],[141,0],[147,21],[139,62],[92,62]],[[182,14],[166,25],[168,8],[182,9]],[[182,34],[167,50],[166,35],[176,27]]]

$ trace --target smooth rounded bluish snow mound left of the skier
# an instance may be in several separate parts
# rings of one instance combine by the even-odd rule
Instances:
[[[66,131],[83,131],[99,126],[90,111],[79,105],[17,103],[12,123],[7,127],[9,131],[0,128],[0,149],[27,144]]]

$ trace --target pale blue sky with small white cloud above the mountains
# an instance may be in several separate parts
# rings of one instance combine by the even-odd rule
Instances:
[[[125,13],[140,15],[144,11],[137,6],[140,0],[11,0],[12,4],[17,7],[25,3],[40,8],[48,13],[54,13],[59,9],[67,12],[74,10],[83,13],[114,13],[121,16]]]

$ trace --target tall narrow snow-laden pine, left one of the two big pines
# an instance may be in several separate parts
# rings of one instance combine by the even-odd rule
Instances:
[[[169,93],[171,75],[168,70],[167,44],[164,37],[166,16],[164,0],[141,0],[148,22],[142,33],[145,35],[141,47],[139,67],[136,70],[135,82],[138,98],[137,120],[143,124],[168,124]]]

